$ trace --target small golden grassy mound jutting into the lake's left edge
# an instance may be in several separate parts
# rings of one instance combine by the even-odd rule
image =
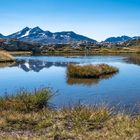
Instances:
[[[0,62],[14,62],[15,59],[8,52],[0,51]]]

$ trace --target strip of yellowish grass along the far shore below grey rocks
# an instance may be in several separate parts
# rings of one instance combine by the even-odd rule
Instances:
[[[9,53],[14,56],[31,56],[33,53],[31,51],[13,51]],[[99,48],[90,50],[77,50],[71,48],[54,49],[48,50],[46,53],[40,53],[36,55],[107,55],[107,54],[131,54],[140,53],[140,47],[127,47],[127,48]]]

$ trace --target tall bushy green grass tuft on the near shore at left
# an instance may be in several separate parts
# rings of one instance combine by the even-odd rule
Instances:
[[[17,94],[1,97],[0,110],[38,111],[44,107],[49,107],[49,100],[52,95],[52,92],[46,88],[34,92],[21,90]]]

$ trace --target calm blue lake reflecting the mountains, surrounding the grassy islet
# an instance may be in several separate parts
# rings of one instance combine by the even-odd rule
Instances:
[[[22,88],[50,87],[56,92],[51,102],[56,107],[81,102],[87,105],[107,104],[139,111],[140,56],[29,56],[17,57],[13,65],[0,65],[0,93],[14,93]],[[69,63],[106,63],[119,73],[102,79],[68,79]]]

